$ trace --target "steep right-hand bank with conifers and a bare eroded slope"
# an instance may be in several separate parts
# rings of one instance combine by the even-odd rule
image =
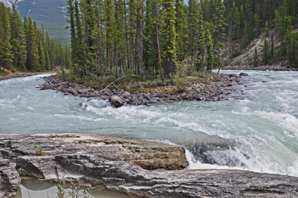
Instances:
[[[235,1],[227,17],[230,37],[225,66],[298,68],[298,2],[250,1],[246,7],[239,5]]]

